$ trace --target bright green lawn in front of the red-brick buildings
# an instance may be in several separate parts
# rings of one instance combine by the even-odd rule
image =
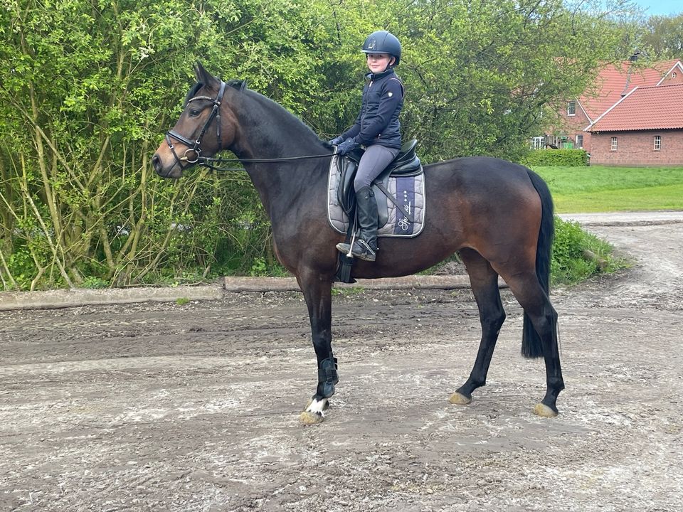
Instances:
[[[683,210],[683,167],[534,167],[556,213]]]

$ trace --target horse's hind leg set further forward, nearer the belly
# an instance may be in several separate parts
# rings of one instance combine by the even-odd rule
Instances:
[[[472,401],[472,391],[486,385],[486,375],[500,328],[505,321],[505,311],[500,302],[498,274],[489,262],[472,249],[461,250],[460,256],[470,274],[472,293],[475,295],[482,323],[482,341],[470,378],[450,397],[452,403],[468,404]]]

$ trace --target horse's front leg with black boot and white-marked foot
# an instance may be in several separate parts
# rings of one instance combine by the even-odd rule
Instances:
[[[314,272],[302,272],[297,281],[308,306],[318,361],[318,386],[300,416],[303,424],[312,425],[324,420],[329,407],[327,399],[334,395],[334,385],[339,382],[337,359],[332,355],[332,280]]]

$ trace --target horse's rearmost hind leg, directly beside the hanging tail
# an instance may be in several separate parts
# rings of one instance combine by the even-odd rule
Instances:
[[[539,335],[546,363],[546,395],[540,403],[536,404],[534,412],[539,416],[556,416],[558,414],[557,395],[564,389],[557,343],[557,312],[550,303],[548,295],[541,288],[535,272],[515,273],[509,276],[502,274],[502,276]]]

